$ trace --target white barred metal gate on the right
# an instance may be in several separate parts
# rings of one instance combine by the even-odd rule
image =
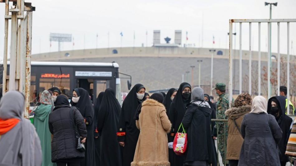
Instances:
[[[290,22],[296,22],[296,19],[236,19],[236,20],[229,20],[229,34],[232,34],[232,24],[233,23],[240,23],[240,93],[242,88],[242,67],[241,67],[241,44],[242,44],[242,31],[241,31],[241,25],[242,23],[249,23],[249,93],[250,95],[252,92],[252,82],[251,82],[251,63],[252,63],[252,48],[251,48],[251,23],[258,23],[258,30],[259,30],[259,36],[258,36],[258,95],[261,95],[261,23],[267,23],[268,25],[268,34],[270,34],[270,26],[272,22],[276,22],[278,24],[278,57],[277,57],[277,94],[279,95],[279,86],[280,86],[280,23],[286,22],[287,23],[287,100],[288,103],[290,101],[289,95],[290,95],[290,50],[289,50],[289,40],[290,40]],[[268,35],[268,55],[271,54],[270,52],[270,35]],[[233,50],[232,50],[232,35],[229,35],[229,107],[231,106],[231,98],[232,98],[232,59],[233,59]],[[267,99],[271,96],[271,85],[270,85],[270,56],[267,56]],[[287,105],[287,114],[289,115],[289,104]]]

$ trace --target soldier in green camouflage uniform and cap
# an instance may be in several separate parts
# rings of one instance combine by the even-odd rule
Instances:
[[[226,85],[224,83],[217,83],[215,88],[212,90],[216,90],[217,96],[219,96],[217,107],[216,107],[216,117],[217,119],[227,119],[227,116],[225,115],[225,111],[229,109],[229,94],[225,93],[225,87]],[[234,103],[234,99],[232,98],[232,105]],[[225,123],[225,128],[224,128]],[[218,149],[220,151],[222,161],[224,165],[228,165],[228,160],[226,160],[226,146],[227,146],[227,122],[216,122],[215,129],[214,129],[214,136],[217,136],[217,130],[218,130]],[[215,131],[216,130],[216,131]],[[225,137],[224,137],[225,134]],[[225,146],[224,146],[225,143]],[[226,163],[225,163],[226,160]]]

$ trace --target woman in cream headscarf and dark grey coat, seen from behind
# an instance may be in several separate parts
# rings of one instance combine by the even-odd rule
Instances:
[[[267,101],[264,97],[254,97],[251,109],[241,122],[244,143],[238,166],[280,166],[276,144],[282,138],[282,130],[275,117],[267,114]]]

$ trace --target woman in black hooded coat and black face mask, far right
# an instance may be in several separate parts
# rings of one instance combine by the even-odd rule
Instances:
[[[279,149],[281,156],[279,161],[282,166],[285,166],[289,162],[289,157],[285,155],[286,147],[288,144],[289,135],[291,133],[290,126],[292,118],[285,114],[286,112],[286,98],[284,96],[271,97],[267,103],[267,113],[275,116],[275,120],[278,122],[283,134],[282,139],[279,141]]]

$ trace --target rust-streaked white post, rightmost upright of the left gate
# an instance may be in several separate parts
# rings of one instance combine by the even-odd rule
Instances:
[[[26,82],[25,82],[25,118],[29,119],[30,88],[31,88],[31,41],[32,41],[32,12],[27,12],[26,33]]]

